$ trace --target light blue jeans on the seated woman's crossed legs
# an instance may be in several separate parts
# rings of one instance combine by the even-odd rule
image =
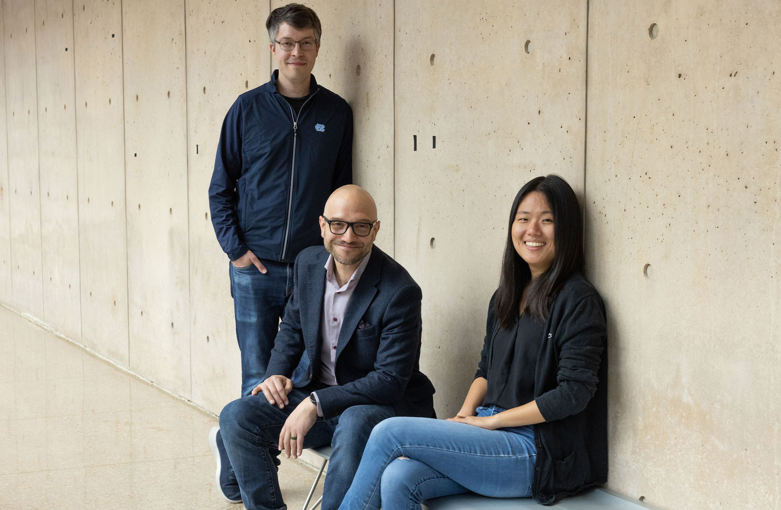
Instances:
[[[501,408],[478,408],[491,415]],[[405,458],[400,458],[405,457]],[[391,418],[372,431],[340,510],[415,510],[473,491],[529,498],[537,460],[532,426],[485,430],[430,418]]]

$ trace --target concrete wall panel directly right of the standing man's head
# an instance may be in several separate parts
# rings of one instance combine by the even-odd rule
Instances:
[[[272,8],[287,2],[275,0]],[[307,2],[323,25],[318,83],[352,107],[353,179],[377,203],[376,244],[394,254],[394,4],[382,0]],[[265,20],[264,20],[265,21]]]

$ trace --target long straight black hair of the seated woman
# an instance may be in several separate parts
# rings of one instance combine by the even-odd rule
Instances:
[[[512,244],[512,223],[523,198],[532,191],[545,195],[553,212],[554,255],[551,266],[532,280],[529,265],[521,259]],[[512,326],[518,319],[523,290],[526,291],[526,308],[534,319],[547,320],[548,308],[572,273],[583,271],[583,223],[580,205],[575,191],[558,175],[535,177],[520,189],[512,201],[507,228],[507,244],[501,262],[501,277],[496,292],[496,312],[499,325]],[[530,284],[531,282],[531,284]]]

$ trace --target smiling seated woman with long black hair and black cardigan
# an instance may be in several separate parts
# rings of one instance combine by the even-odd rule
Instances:
[[[530,180],[512,203],[461,410],[377,425],[341,510],[408,510],[470,490],[550,504],[607,481],[605,313],[582,271],[572,187],[555,175]]]

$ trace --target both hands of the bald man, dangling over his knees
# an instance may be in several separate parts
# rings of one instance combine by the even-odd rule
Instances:
[[[283,409],[290,404],[287,394],[293,391],[293,381],[285,376],[270,376],[252,390],[253,395],[262,393],[269,404]],[[285,420],[280,431],[280,440],[277,448],[283,451],[286,458],[298,458],[304,451],[304,437],[315,424],[317,419],[317,406],[308,398],[291,412]]]

